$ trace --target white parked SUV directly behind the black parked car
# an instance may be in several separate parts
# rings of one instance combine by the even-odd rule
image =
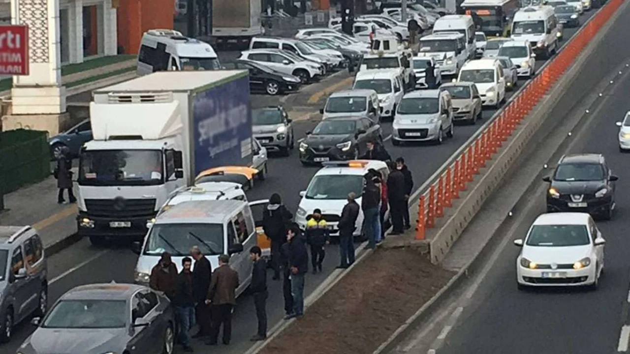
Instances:
[[[251,60],[275,71],[297,76],[302,83],[311,82],[325,72],[321,64],[280,49],[246,50],[239,59]]]

